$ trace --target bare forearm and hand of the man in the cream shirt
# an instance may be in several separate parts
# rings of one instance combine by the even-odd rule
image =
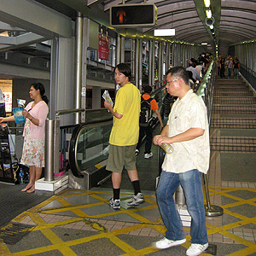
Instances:
[[[165,133],[165,135],[161,134],[162,136],[157,137],[155,143],[157,145],[160,145],[161,143],[182,143],[193,140],[196,137],[201,137],[204,134],[204,132],[205,130],[202,128],[190,128],[189,130],[177,134],[176,136],[173,137],[167,137]]]

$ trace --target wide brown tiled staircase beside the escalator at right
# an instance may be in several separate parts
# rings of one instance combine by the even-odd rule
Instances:
[[[256,97],[241,79],[217,79],[212,101],[211,149],[256,152]]]

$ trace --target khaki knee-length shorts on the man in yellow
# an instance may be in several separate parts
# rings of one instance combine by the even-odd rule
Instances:
[[[111,172],[122,172],[125,166],[127,171],[136,170],[135,149],[136,145],[115,146],[110,144],[106,169]]]

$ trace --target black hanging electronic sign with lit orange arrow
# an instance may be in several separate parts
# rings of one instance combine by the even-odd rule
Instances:
[[[119,4],[110,8],[111,26],[154,26],[156,20],[157,11],[154,4]]]

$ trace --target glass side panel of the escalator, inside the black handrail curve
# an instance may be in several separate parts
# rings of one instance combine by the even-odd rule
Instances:
[[[109,135],[112,121],[86,125],[81,129],[76,144],[76,161],[80,172],[108,159]],[[91,170],[94,171],[94,170]]]

